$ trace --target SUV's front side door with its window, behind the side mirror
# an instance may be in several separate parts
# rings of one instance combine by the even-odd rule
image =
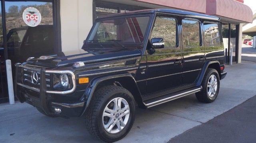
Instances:
[[[178,44],[178,28],[175,17],[157,16],[151,38],[163,38],[164,48],[152,49],[150,43],[146,52],[147,96],[164,95],[182,84],[182,52]],[[155,97],[155,96],[154,96]]]

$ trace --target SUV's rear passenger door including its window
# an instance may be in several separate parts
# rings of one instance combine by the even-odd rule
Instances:
[[[204,64],[204,46],[200,21],[195,19],[182,20],[183,46],[183,78],[182,85],[194,86]]]

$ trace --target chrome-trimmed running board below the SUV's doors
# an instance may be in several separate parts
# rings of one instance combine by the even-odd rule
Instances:
[[[169,102],[169,101],[172,101],[172,100],[175,100],[175,99],[178,99],[178,98],[181,98],[181,97],[184,97],[184,96],[196,93],[196,92],[200,92],[201,89],[202,89],[202,86],[190,88],[190,89],[182,91],[182,92],[170,94],[167,96],[162,96],[161,98],[144,102],[144,104],[146,105],[147,108],[154,107],[159,104],[163,104],[163,103],[166,103],[166,102]]]

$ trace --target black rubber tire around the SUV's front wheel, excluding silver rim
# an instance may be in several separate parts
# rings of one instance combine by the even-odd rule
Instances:
[[[103,126],[102,114],[107,104],[114,98],[124,98],[130,108],[130,116],[124,128],[118,133],[109,133]],[[105,142],[114,142],[122,139],[132,128],[135,119],[135,100],[132,94],[125,88],[119,86],[104,86],[98,89],[92,97],[90,105],[86,110],[86,128],[91,135]]]

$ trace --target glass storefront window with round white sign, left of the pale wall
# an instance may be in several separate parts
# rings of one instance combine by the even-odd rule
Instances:
[[[0,102],[8,99],[5,58],[12,62],[14,77],[15,63],[23,63],[28,57],[55,53],[52,2],[53,0],[5,0],[6,27],[2,27],[2,13],[0,14]],[[3,35],[3,29],[6,29],[6,35]],[[7,47],[3,46],[3,37],[6,38]],[[8,52],[8,57],[4,57],[4,51]]]

